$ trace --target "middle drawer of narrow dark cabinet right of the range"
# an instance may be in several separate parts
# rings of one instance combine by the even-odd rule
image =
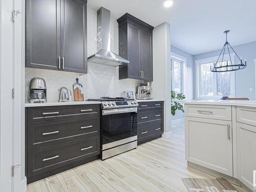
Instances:
[[[138,111],[138,123],[162,119],[162,109],[148,109]]]

